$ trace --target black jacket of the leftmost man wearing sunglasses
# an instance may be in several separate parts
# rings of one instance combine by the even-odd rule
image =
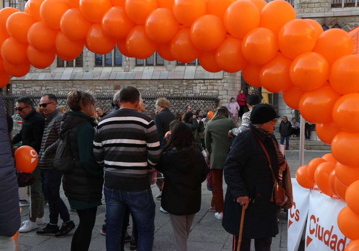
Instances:
[[[15,145],[22,141],[23,146],[31,146],[39,153],[44,128],[45,119],[33,109],[25,117],[20,132],[14,136],[13,144]]]

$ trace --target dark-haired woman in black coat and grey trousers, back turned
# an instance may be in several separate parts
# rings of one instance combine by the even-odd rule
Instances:
[[[176,236],[176,250],[187,251],[187,238],[195,215],[201,209],[201,183],[208,168],[194,146],[192,129],[176,123],[156,169],[164,174],[161,207],[169,212]]]

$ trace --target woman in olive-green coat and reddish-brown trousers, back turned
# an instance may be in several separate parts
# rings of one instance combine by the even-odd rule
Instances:
[[[207,123],[204,132],[206,148],[211,155],[213,201],[216,208],[214,216],[217,219],[223,218],[223,166],[232,143],[228,131],[234,127],[236,123],[228,118],[227,108],[219,106]]]

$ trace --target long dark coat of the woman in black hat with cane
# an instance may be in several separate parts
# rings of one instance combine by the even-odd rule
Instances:
[[[277,155],[272,140],[252,124],[250,128],[263,142],[270,156],[273,172],[278,176]],[[238,235],[242,206],[237,203],[237,197],[248,196],[251,202],[244,216],[243,237],[275,237],[279,233],[278,206],[270,202],[272,174],[265,152],[250,130],[242,131],[234,139],[224,164],[224,179],[227,183],[222,221],[224,229],[232,235]]]

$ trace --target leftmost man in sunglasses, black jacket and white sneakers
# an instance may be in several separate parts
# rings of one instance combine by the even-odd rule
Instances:
[[[15,110],[20,117],[24,119],[24,122],[21,131],[13,138],[13,144],[22,141],[23,146],[31,146],[39,153],[45,119],[33,109],[33,103],[31,99],[27,97],[21,97],[17,100]],[[31,214],[29,215],[29,219],[25,221],[24,225],[19,229],[21,233],[38,228],[37,224],[45,224],[45,219],[43,218],[44,196],[42,193],[39,167],[36,167],[32,175],[35,181],[31,185]]]

